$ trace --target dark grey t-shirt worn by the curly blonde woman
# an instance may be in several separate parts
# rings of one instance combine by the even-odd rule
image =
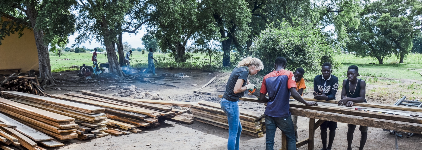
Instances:
[[[233,92],[233,89],[235,88],[238,79],[243,79],[244,82],[242,84],[242,87],[245,86],[248,80],[248,75],[248,67],[241,66],[239,68],[233,69],[232,74],[230,74],[229,80],[227,81],[226,91],[224,92],[223,98],[232,102],[236,102],[239,100],[239,98],[243,97],[243,92],[235,94]]]

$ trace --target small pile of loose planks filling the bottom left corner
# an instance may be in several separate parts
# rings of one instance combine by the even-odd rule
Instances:
[[[25,124],[22,124],[3,113],[0,113],[0,127],[4,132],[9,133],[13,137],[19,139],[18,142],[21,144],[21,147],[25,147],[29,150],[36,150],[37,149],[37,143],[44,145],[46,147],[60,147],[64,146],[63,143],[56,141],[53,137],[50,137],[46,134],[43,134],[42,132],[39,132],[29,126],[26,126]],[[6,126],[6,124],[10,124],[11,126]],[[11,129],[14,129],[11,130]],[[29,137],[27,139],[26,137]],[[35,143],[34,143],[35,142]],[[8,141],[3,140],[3,144],[8,143]],[[3,149],[7,149],[5,147],[2,147]],[[43,149],[41,147],[38,147],[39,149]],[[20,148],[19,148],[20,149]]]

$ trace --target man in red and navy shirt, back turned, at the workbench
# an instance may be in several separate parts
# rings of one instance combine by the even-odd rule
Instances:
[[[295,76],[286,68],[286,58],[278,57],[274,63],[275,71],[264,76],[261,85],[260,100],[267,103],[265,108],[265,149],[274,149],[274,137],[277,127],[286,135],[287,150],[296,150],[295,129],[292,121],[292,113],[289,109],[289,99],[292,95],[295,100],[308,106],[317,106],[316,102],[304,100],[296,90]],[[226,89],[227,91],[227,89]],[[268,93],[268,98],[266,97]]]

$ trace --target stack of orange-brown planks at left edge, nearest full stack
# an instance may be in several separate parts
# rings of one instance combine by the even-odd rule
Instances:
[[[0,111],[38,131],[57,139],[76,138],[75,119],[0,98]]]

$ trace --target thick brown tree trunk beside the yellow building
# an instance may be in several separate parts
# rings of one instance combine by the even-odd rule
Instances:
[[[27,10],[25,13],[28,16],[31,25],[34,27],[33,32],[35,37],[35,45],[37,45],[38,50],[38,66],[40,70],[39,77],[43,79],[41,82],[41,87],[51,87],[53,85],[56,85],[55,82],[57,81],[53,78],[53,75],[51,74],[49,49],[48,45],[45,45],[43,41],[44,32],[35,28],[35,22],[37,19],[37,12],[35,6],[29,3],[27,5]]]

